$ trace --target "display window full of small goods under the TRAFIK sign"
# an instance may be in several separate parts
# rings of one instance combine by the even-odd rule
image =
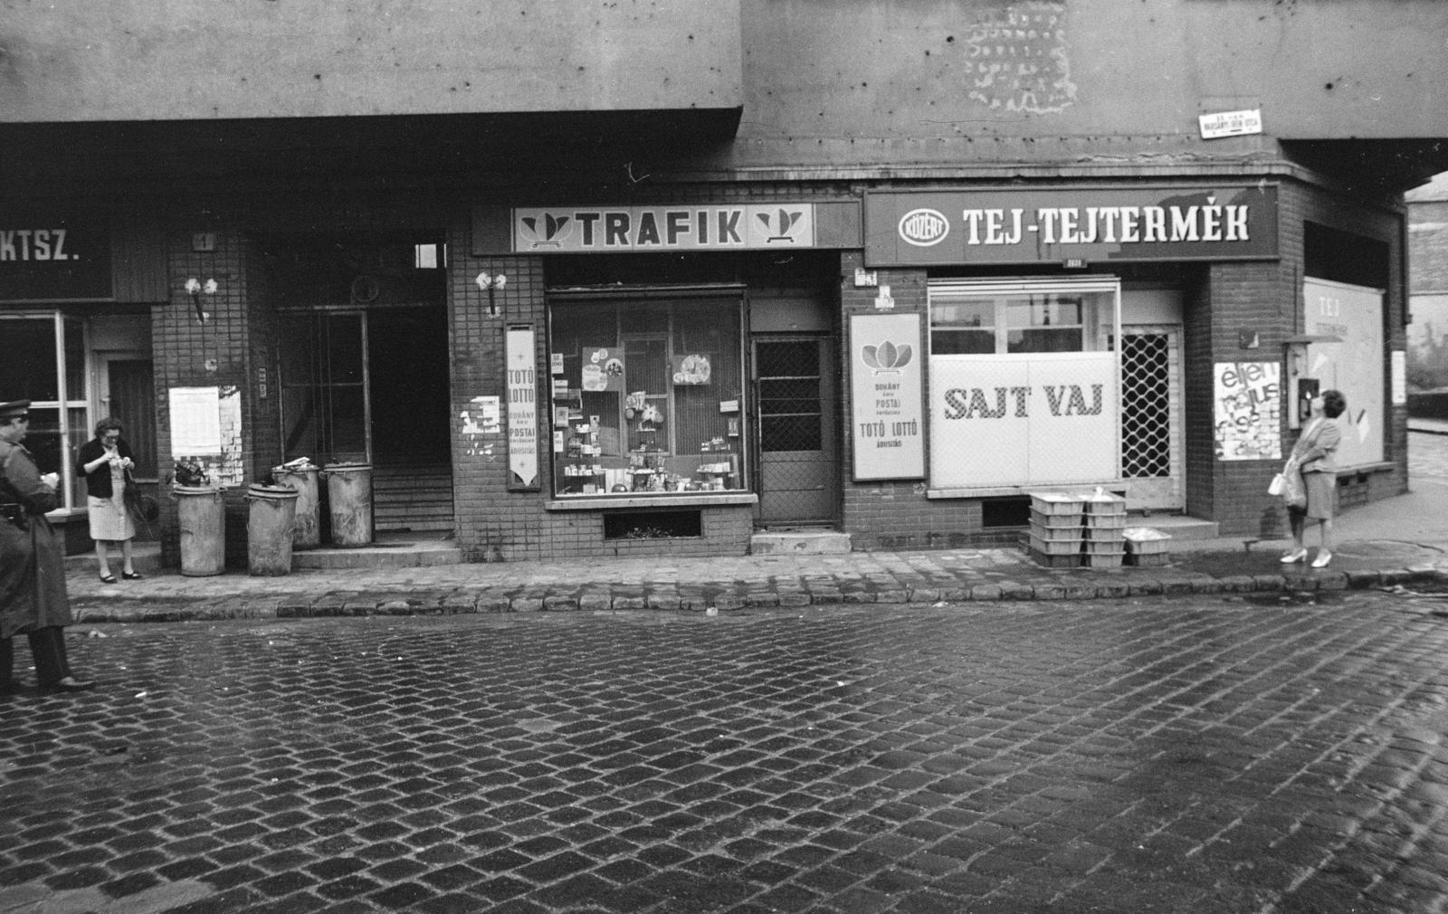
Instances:
[[[740,300],[555,301],[553,494],[746,488]]]

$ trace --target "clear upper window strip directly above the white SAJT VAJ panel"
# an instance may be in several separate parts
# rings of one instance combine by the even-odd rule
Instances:
[[[1115,288],[931,288],[931,355],[1098,352],[1111,348]]]

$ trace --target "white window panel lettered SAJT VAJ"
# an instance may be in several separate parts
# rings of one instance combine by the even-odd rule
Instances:
[[[1114,352],[934,356],[931,488],[1119,478]]]

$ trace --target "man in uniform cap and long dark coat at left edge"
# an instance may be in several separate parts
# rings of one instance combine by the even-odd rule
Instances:
[[[77,679],[65,656],[62,629],[71,624],[65,595],[65,550],[46,511],[55,510],[54,472],[43,477],[20,445],[30,423],[30,401],[0,403],[0,694],[13,692],[12,639],[30,639],[42,691],[78,692],[94,682]]]

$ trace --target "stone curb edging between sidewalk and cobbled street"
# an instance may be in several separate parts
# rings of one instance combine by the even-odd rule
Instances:
[[[146,623],[146,621],[222,621],[268,619],[329,619],[358,616],[472,616],[498,613],[608,613],[650,610],[659,613],[736,611],[749,608],[798,608],[827,604],[934,605],[946,603],[1054,603],[1083,600],[1124,600],[1131,597],[1179,597],[1248,592],[1318,592],[1396,587],[1420,581],[1448,581],[1448,571],[1435,566],[1394,568],[1386,571],[1302,572],[1284,575],[1164,575],[1142,579],[1043,581],[1035,584],[975,584],[960,587],[888,587],[876,591],[821,587],[818,591],[791,588],[724,591],[707,598],[701,594],[663,592],[613,594],[608,588],[571,585],[568,594],[550,594],[537,587],[508,592],[500,588],[476,592],[408,595],[391,592],[329,592],[320,597],[284,594],[278,597],[232,597],[171,604],[130,607],[109,604],[74,610],[75,623]],[[630,587],[637,591],[637,587]],[[139,601],[138,601],[139,603]]]

